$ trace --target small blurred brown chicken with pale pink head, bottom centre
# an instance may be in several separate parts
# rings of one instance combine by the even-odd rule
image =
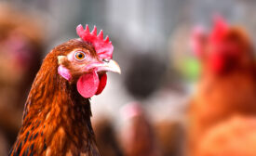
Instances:
[[[128,104],[121,112],[128,121],[121,134],[125,156],[159,156],[153,125],[140,104]]]

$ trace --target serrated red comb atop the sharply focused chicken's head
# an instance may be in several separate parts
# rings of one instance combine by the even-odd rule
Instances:
[[[88,43],[91,43],[94,46],[96,53],[99,55],[100,58],[112,58],[114,46],[112,45],[112,42],[109,41],[108,36],[106,36],[106,38],[103,39],[102,30],[97,35],[96,26],[94,26],[92,32],[89,32],[88,24],[85,30],[83,26],[80,24],[76,27],[76,32],[81,39]]]

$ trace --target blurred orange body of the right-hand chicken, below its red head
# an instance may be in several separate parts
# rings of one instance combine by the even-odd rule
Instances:
[[[204,80],[190,108],[190,146],[197,142],[216,123],[235,115],[256,114],[255,80],[236,73],[214,82]],[[205,83],[205,84],[204,84]]]

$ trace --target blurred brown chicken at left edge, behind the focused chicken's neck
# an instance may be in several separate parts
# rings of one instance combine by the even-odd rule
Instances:
[[[0,4],[0,129],[12,144],[23,103],[43,55],[43,29],[31,16]]]

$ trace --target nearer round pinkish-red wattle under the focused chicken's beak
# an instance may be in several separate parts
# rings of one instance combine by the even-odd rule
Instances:
[[[82,97],[92,97],[96,94],[100,79],[96,71],[80,76],[76,83],[77,91]]]

